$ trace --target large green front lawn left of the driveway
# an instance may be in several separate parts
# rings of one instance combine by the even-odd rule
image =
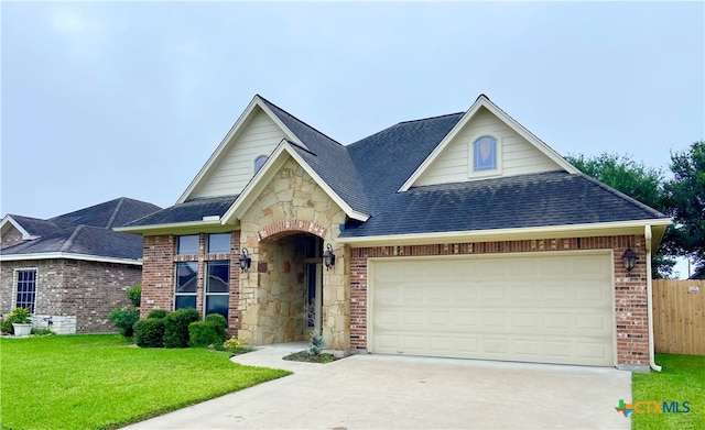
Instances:
[[[3,430],[112,429],[291,374],[118,334],[0,339]]]

